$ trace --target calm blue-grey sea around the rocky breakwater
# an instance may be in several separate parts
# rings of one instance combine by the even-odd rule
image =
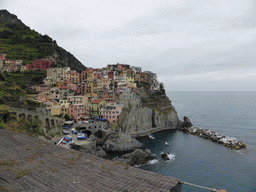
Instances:
[[[256,191],[256,92],[167,92],[179,119],[187,116],[196,127],[235,137],[248,147],[231,150],[211,140],[180,130],[155,133],[155,140],[142,137],[158,161],[139,169],[175,177],[187,183],[225,189]],[[169,143],[169,146],[165,145]],[[171,160],[161,160],[169,152]],[[183,184],[182,191],[208,191]]]

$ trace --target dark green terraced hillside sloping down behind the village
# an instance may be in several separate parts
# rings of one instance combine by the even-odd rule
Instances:
[[[6,53],[7,59],[22,59],[24,64],[35,59],[52,58],[57,61],[58,67],[68,66],[78,72],[86,69],[55,40],[31,30],[7,10],[0,10],[0,52]]]

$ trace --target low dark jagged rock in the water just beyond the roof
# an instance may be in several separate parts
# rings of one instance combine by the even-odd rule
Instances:
[[[152,154],[149,149],[145,152],[141,149],[136,149],[132,153],[127,153],[121,158],[114,158],[113,161],[127,163],[128,165],[143,165],[147,164],[149,161],[157,159],[156,155]]]

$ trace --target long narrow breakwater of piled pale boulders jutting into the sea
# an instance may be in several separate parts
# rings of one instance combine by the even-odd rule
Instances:
[[[211,139],[213,142],[218,142],[231,149],[243,149],[246,148],[246,144],[237,140],[234,137],[224,136],[208,129],[200,129],[198,127],[184,127],[183,131],[187,131],[190,134],[198,135],[199,137]]]

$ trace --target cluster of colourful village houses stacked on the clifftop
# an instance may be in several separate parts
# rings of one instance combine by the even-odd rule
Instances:
[[[19,60],[15,61],[16,64],[7,64],[15,62],[6,62],[5,55],[0,54],[0,70],[15,71],[11,66],[17,65]],[[19,70],[46,70],[44,84],[30,87],[38,92],[36,99],[46,105],[51,115],[62,118],[67,115],[78,122],[88,117],[115,122],[123,107],[139,102],[137,82],[149,83],[151,90],[160,89],[156,74],[142,72],[140,67],[117,63],[101,69],[87,68],[79,73],[69,67],[53,68],[53,63],[36,60]]]

